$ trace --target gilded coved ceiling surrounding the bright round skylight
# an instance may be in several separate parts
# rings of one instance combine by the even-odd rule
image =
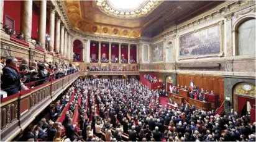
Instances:
[[[89,34],[127,38],[152,37],[165,28],[202,14],[224,1],[62,1],[71,25]],[[123,13],[122,13],[123,12]]]

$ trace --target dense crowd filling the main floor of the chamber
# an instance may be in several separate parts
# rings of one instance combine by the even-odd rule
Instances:
[[[222,117],[188,104],[162,106],[158,92],[138,80],[78,79],[75,88],[84,98],[79,113],[86,141],[97,140],[93,134],[106,141],[126,134],[129,141],[255,141],[255,123],[247,115]]]

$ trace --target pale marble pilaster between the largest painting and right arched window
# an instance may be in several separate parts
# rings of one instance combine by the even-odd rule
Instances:
[[[224,17],[226,18],[226,56],[233,56],[232,50],[232,16],[233,13],[226,14]]]

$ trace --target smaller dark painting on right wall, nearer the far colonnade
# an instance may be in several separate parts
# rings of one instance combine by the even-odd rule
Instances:
[[[163,61],[163,43],[153,44],[151,50],[152,62]]]

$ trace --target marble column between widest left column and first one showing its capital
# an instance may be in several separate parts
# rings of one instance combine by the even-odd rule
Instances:
[[[42,48],[45,48],[45,31],[46,31],[46,6],[47,1],[42,0],[39,4],[39,42],[42,43]]]

